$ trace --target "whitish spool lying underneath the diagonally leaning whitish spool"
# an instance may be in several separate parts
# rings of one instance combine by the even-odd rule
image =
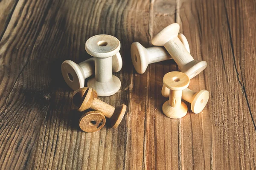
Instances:
[[[189,51],[189,42],[186,37],[183,34],[179,34],[178,37],[185,48]],[[139,42],[131,44],[131,60],[135,70],[139,74],[143,74],[146,71],[148,64],[161,62],[167,59],[172,59],[172,57],[164,47],[156,46],[145,48]]]

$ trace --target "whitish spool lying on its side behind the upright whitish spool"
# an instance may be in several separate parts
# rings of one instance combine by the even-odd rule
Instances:
[[[122,57],[118,52],[112,57],[113,72],[118,72],[122,68]],[[79,64],[71,60],[66,60],[61,64],[61,72],[67,85],[74,91],[84,87],[84,79],[94,74],[94,57]]]

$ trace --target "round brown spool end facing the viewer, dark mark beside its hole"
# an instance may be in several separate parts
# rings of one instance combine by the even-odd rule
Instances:
[[[81,116],[79,127],[84,132],[96,132],[106,124],[106,118],[99,111],[90,111]]]

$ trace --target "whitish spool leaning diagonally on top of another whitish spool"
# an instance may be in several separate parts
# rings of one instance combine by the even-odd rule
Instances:
[[[195,60],[189,54],[189,51],[186,50],[178,38],[179,30],[179,24],[173,23],[163,28],[151,42],[153,45],[164,46],[180,67],[180,71],[186,73],[192,79],[207,67],[207,62]]]

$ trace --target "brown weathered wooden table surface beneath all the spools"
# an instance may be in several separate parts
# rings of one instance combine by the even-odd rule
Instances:
[[[207,107],[182,119],[161,111],[175,62],[137,74],[130,57],[174,22],[208,63],[189,85]],[[85,133],[61,63],[90,58],[96,34],[117,37],[123,59],[120,91],[100,99],[127,112]],[[255,0],[0,0],[0,169],[256,169],[255,43]]]

